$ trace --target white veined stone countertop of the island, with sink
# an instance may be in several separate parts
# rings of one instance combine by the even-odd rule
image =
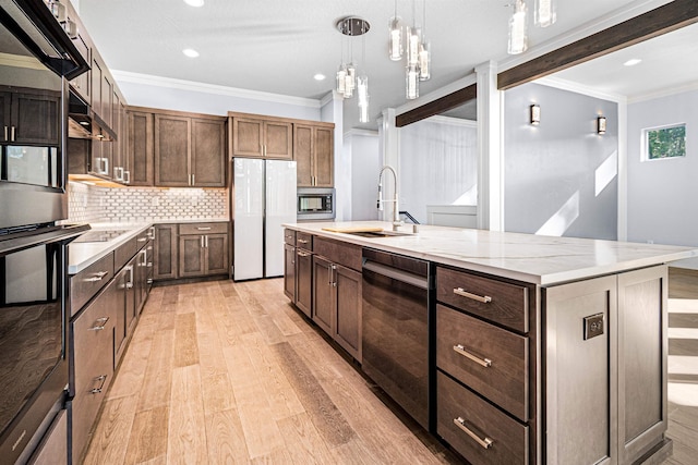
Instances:
[[[432,227],[399,228],[410,234],[388,237],[325,231],[323,228],[381,228],[389,222],[351,221],[289,223],[285,227],[385,252],[510,278],[542,286],[617,273],[698,256],[698,249],[576,237]]]

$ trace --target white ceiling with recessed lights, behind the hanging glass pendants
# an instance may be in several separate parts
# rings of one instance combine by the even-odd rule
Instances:
[[[557,22],[547,28],[533,27],[531,22],[529,45],[531,48],[544,45],[579,25],[641,1],[647,2],[558,0]],[[420,23],[423,2],[416,0]],[[531,11],[532,0],[528,2]],[[507,3],[512,0],[426,2],[425,34],[433,48],[432,78],[421,83],[421,95],[470,74],[488,60],[507,59],[507,23],[512,12],[510,7],[505,7]],[[408,22],[412,21],[411,4],[411,0],[397,1],[398,15]],[[354,97],[345,101],[345,130],[376,129],[375,119],[382,109],[406,102],[405,65],[387,58],[387,24],[394,1],[205,0],[203,8],[192,8],[183,0],[79,0],[79,8],[112,70],[312,99],[326,96],[335,85],[342,40],[347,40],[336,29],[337,21],[348,15],[360,16],[369,21],[371,30],[365,35],[365,60],[361,38],[352,39],[353,57],[369,76],[372,122],[359,124]],[[201,54],[189,59],[182,54],[184,48],[194,48]],[[660,58],[677,59],[669,53],[660,53]],[[643,64],[645,68],[641,64],[635,69],[647,72],[650,63]],[[568,73],[565,78],[603,86],[616,77],[627,77],[612,73],[611,68],[603,64],[603,74],[598,70],[570,70],[565,72]],[[659,68],[662,69],[665,68]],[[622,71],[627,70],[631,69]],[[697,76],[693,71],[693,76]],[[327,78],[314,81],[315,73]],[[657,82],[649,74],[648,79]],[[640,82],[618,84],[610,90],[646,91],[636,88],[642,87]]]

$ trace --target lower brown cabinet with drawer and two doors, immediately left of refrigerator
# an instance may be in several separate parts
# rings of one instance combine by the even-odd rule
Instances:
[[[179,278],[228,273],[228,224],[179,227]]]

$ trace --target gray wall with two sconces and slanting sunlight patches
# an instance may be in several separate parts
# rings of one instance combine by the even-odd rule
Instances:
[[[598,114],[607,118],[605,135],[595,132]],[[615,102],[540,84],[505,93],[506,231],[617,237],[617,114]]]

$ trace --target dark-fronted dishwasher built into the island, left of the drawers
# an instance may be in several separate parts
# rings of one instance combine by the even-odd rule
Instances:
[[[433,277],[429,261],[363,249],[362,368],[428,430]]]

